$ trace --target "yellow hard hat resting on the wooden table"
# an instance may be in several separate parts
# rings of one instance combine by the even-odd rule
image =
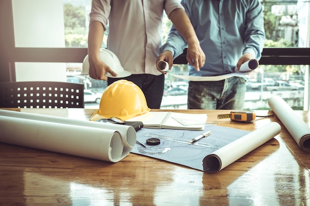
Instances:
[[[139,86],[127,80],[119,80],[103,91],[99,110],[92,115],[91,121],[111,117],[126,121],[150,110]]]

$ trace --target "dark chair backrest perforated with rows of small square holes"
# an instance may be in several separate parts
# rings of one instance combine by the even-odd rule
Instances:
[[[3,108],[84,108],[84,85],[71,82],[0,82]]]

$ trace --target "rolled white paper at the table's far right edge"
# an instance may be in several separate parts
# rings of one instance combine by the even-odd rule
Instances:
[[[305,152],[310,152],[310,127],[298,117],[293,109],[279,96],[268,99],[268,105],[290,132],[298,146]]]

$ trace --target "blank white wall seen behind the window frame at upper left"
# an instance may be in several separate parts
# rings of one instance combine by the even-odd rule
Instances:
[[[62,0],[12,0],[16,47],[65,47]],[[66,82],[66,63],[16,62],[16,81]]]

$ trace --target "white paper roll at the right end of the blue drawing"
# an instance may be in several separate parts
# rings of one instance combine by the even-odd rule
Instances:
[[[203,159],[204,171],[210,173],[220,171],[272,139],[280,133],[280,130],[280,124],[272,122],[225,145]]]

